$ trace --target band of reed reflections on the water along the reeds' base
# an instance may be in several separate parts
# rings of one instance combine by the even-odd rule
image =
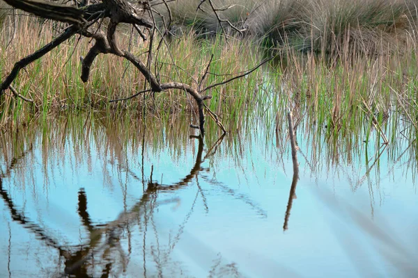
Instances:
[[[285,165],[290,158],[286,127],[279,125],[277,132],[274,132],[274,127],[265,126],[263,122],[251,124],[248,126],[249,131],[244,129],[229,134],[224,138],[222,145],[216,145],[216,152],[208,154],[206,161],[213,170],[211,173],[214,177],[217,170],[221,170],[220,162],[225,159],[231,161],[231,166],[245,179],[251,176],[248,165],[252,165],[254,169],[259,163],[248,161],[253,152],[260,152],[254,149],[254,146],[264,146],[264,163],[272,167],[281,167],[284,172],[291,174]],[[208,146],[218,139],[217,126],[213,126],[213,129],[215,130],[204,138]],[[304,174],[309,173],[317,181],[323,178],[323,173],[326,173],[326,178],[343,177],[349,181],[353,191],[362,186],[369,186],[371,198],[373,190],[380,191],[380,179],[394,176],[398,169],[405,172],[405,177],[412,177],[415,181],[415,140],[400,137],[392,144],[381,145],[380,135],[376,130],[371,130],[369,142],[364,142],[362,138],[366,138],[366,132],[352,133],[341,139],[338,136],[327,136],[325,127],[317,131],[301,122],[297,126],[301,171]],[[34,155],[22,156],[30,153],[33,145],[42,148],[40,166],[46,175],[53,174],[51,169],[54,169],[54,165],[63,167],[62,161],[68,155],[75,157],[76,167],[86,163],[86,170],[91,172],[97,159],[93,156],[95,153],[104,163],[104,182],[111,184],[109,170],[113,167],[127,172],[132,179],[144,180],[149,167],[143,168],[140,175],[130,169],[133,165],[154,163],[144,161],[144,157],[146,159],[148,155],[158,158],[161,152],[167,152],[176,165],[185,163],[182,160],[185,159],[185,155],[196,154],[198,150],[195,145],[189,144],[188,136],[189,126],[182,117],[179,117],[179,121],[167,124],[155,117],[149,117],[144,124],[140,118],[132,120],[132,117],[126,114],[122,117],[109,117],[106,113],[61,113],[59,116],[48,117],[45,122],[40,119],[33,120],[24,128],[15,126],[13,131],[3,133],[0,149],[6,165],[20,165],[14,170],[19,173],[15,183],[22,188],[25,188],[28,181],[35,183],[31,180],[34,179],[33,175],[26,172],[24,165],[39,165],[40,161],[36,161]],[[10,172],[7,167],[2,171],[6,174]],[[49,179],[46,179],[45,186],[48,186],[48,182]]]

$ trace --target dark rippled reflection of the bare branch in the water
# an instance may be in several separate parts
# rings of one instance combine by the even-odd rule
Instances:
[[[223,136],[222,136],[223,138]],[[219,138],[215,145],[210,147],[208,154],[204,158],[203,156],[203,140],[199,139],[199,148],[196,155],[196,161],[192,170],[190,170],[189,174],[178,183],[173,185],[165,186],[163,184],[157,183],[150,179],[148,183],[146,183],[146,190],[142,195],[139,202],[134,204],[130,210],[125,210],[121,213],[116,220],[109,222],[107,224],[102,225],[94,225],[91,217],[87,211],[87,195],[83,188],[79,190],[78,193],[78,206],[77,206],[77,213],[81,219],[82,225],[88,231],[88,242],[84,243],[83,245],[74,245],[71,247],[62,247],[58,241],[54,240],[51,236],[48,235],[47,229],[44,227],[40,227],[38,224],[34,224],[28,218],[25,217],[23,212],[18,211],[15,208],[15,204],[13,203],[13,199],[9,197],[6,190],[3,189],[3,185],[0,179],[0,197],[4,200],[7,204],[10,214],[12,215],[13,220],[22,224],[26,229],[29,229],[34,234],[36,234],[37,238],[42,240],[47,244],[49,247],[53,247],[54,249],[59,251],[60,258],[64,259],[63,265],[65,265],[65,269],[63,275],[74,275],[75,277],[91,277],[89,271],[91,268],[95,268],[95,261],[99,261],[99,264],[102,268],[102,277],[109,277],[109,275],[113,275],[114,270],[112,270],[112,260],[109,256],[111,252],[118,252],[121,257],[121,265],[125,269],[126,260],[125,254],[121,248],[120,238],[122,237],[123,230],[126,229],[127,225],[130,223],[137,223],[141,225],[141,218],[144,218],[145,226],[147,226],[146,219],[150,219],[150,215],[152,218],[153,211],[157,206],[161,206],[163,204],[172,204],[173,202],[178,202],[178,199],[167,199],[163,201],[157,201],[157,193],[160,191],[167,191],[167,190],[176,190],[178,188],[182,188],[189,184],[194,177],[198,177],[199,172],[203,170],[201,167],[201,163],[205,161],[205,159],[214,154],[217,150],[217,147],[222,142],[222,138]],[[13,164],[14,165],[14,164]],[[12,165],[12,166],[13,166]],[[10,167],[12,168],[12,167]],[[199,186],[200,187],[200,186]],[[203,190],[199,188],[198,193],[202,196],[203,202],[206,204],[206,197],[203,194]],[[207,206],[207,204],[206,204]],[[185,220],[183,221],[182,225],[180,225],[180,229],[176,236],[176,239],[171,245],[171,249],[176,245],[178,241],[177,238],[180,238],[180,235],[183,234],[183,229],[185,224],[190,218],[192,214],[194,206],[189,211],[189,214],[186,216]],[[138,222],[139,220],[139,222]],[[151,219],[153,222],[153,219]],[[153,224],[153,223],[151,223]],[[154,225],[154,224],[153,224]],[[146,227],[145,227],[146,229]],[[158,240],[157,236],[157,229],[154,227],[155,237]],[[144,234],[145,236],[145,234]],[[145,248],[145,238],[144,238],[144,248]],[[162,272],[162,260],[164,256],[160,256],[160,247],[157,246],[159,254],[157,254],[158,259],[156,261],[157,267],[159,271]],[[145,252],[145,249],[144,249]],[[144,253],[145,256],[145,253]],[[95,259],[93,259],[95,258]],[[97,258],[101,258],[97,260]],[[113,259],[114,260],[114,259]],[[144,258],[145,260],[145,258]],[[158,266],[160,265],[160,266]],[[146,276],[146,263],[144,261],[144,275]]]

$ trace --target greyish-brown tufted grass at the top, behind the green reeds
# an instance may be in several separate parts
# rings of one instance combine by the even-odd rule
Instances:
[[[213,1],[216,8],[245,35],[265,47],[292,47],[321,54],[379,54],[403,47],[393,40],[416,41],[417,6],[410,0],[229,0]],[[199,1],[171,4],[174,30],[192,26],[201,33],[222,30],[214,13],[196,10]],[[164,13],[164,9],[162,13]],[[224,23],[224,27],[228,24]],[[349,49],[343,49],[348,46]]]

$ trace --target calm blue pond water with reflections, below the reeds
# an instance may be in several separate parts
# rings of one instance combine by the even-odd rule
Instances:
[[[89,114],[4,133],[0,277],[417,277],[407,141],[378,156],[299,133],[292,195],[285,133],[187,126]]]

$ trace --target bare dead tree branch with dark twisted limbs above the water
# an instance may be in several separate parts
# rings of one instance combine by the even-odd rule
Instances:
[[[68,24],[65,31],[61,33],[57,38],[49,42],[44,47],[38,49],[33,54],[26,56],[15,63],[11,72],[3,79],[3,82],[0,83],[0,97],[3,95],[3,92],[10,88],[13,94],[17,97],[24,99],[25,101],[33,102],[31,99],[26,99],[22,95],[18,94],[16,90],[13,89],[12,83],[17,78],[20,70],[24,67],[33,63],[33,61],[42,58],[45,54],[49,51],[52,51],[60,44],[65,42],[65,40],[70,39],[73,35],[79,34],[86,38],[94,39],[93,47],[88,50],[85,58],[82,58],[82,73],[81,79],[83,82],[87,82],[89,79],[89,75],[91,72],[91,67],[94,63],[95,58],[97,58],[100,54],[113,54],[116,56],[120,56],[129,60],[134,67],[141,72],[144,76],[147,83],[150,85],[150,89],[146,89],[146,84],[144,84],[144,90],[141,90],[135,95],[131,97],[121,98],[121,99],[114,99],[114,101],[122,101],[127,99],[132,99],[137,95],[141,95],[144,92],[162,92],[166,90],[183,90],[187,92],[191,97],[193,97],[194,101],[196,102],[198,111],[199,111],[199,126],[192,126],[197,127],[201,131],[201,135],[204,134],[204,122],[205,122],[205,114],[203,108],[208,111],[210,117],[217,123],[217,125],[225,132],[224,126],[221,122],[219,122],[219,117],[210,111],[210,109],[205,106],[203,103],[204,100],[210,99],[211,97],[208,95],[202,95],[203,92],[209,90],[210,88],[214,88],[218,85],[224,85],[229,83],[235,79],[239,79],[251,72],[254,72],[258,67],[261,67],[264,63],[267,63],[268,60],[264,60],[261,64],[257,65],[253,69],[244,72],[243,74],[239,74],[231,79],[227,79],[221,83],[216,83],[213,85],[209,85],[208,87],[201,89],[202,84],[206,80],[207,75],[209,74],[210,64],[212,63],[212,58],[206,67],[206,71],[201,76],[200,82],[196,84],[196,88],[188,85],[186,83],[181,82],[168,82],[168,83],[160,83],[159,74],[157,70],[155,73],[150,70],[151,64],[153,63],[153,42],[154,36],[160,34],[162,36],[162,40],[164,40],[164,35],[169,33],[169,26],[172,22],[172,15],[169,5],[167,3],[171,2],[172,0],[161,0],[157,3],[150,4],[148,1],[138,1],[137,3],[133,4],[127,0],[101,0],[95,1],[95,3],[91,3],[91,1],[83,0],[81,3],[75,1],[74,5],[79,6],[70,6],[69,3],[53,3],[51,1],[45,0],[5,0],[10,6],[14,8],[24,10],[31,15],[35,15],[38,17],[42,17],[44,19],[52,19],[57,22],[64,22]],[[203,3],[206,0],[201,1]],[[228,23],[231,28],[234,28],[238,32],[242,32],[235,26],[231,24],[231,22],[221,19],[219,17],[219,12],[222,12],[224,9],[215,8],[211,0],[208,0],[212,12],[215,13],[219,24],[222,26],[222,23]],[[157,11],[153,10],[153,6],[155,5],[164,5],[168,12],[169,12],[169,24],[164,21],[164,28],[165,31],[160,31],[157,28],[157,24],[155,23],[155,18],[153,16],[154,13]],[[199,7],[201,4],[199,4]],[[229,7],[231,8],[231,7]],[[108,18],[109,21],[107,23],[107,31],[102,31],[102,20],[104,18]],[[100,21],[98,23],[98,21]],[[140,27],[148,29],[148,33],[150,34],[150,42],[149,42],[149,50],[148,50],[148,60],[145,63],[141,61],[137,56],[134,56],[130,51],[126,51],[125,49],[121,49],[118,45],[116,40],[116,28],[118,24],[125,23],[125,24],[132,24],[133,28],[135,28],[141,38],[146,40],[146,36],[144,35],[143,31],[141,31]],[[225,32],[224,32],[225,33]],[[162,44],[160,42],[160,44]],[[160,44],[157,47],[157,54],[158,50],[160,49]],[[155,69],[157,69],[157,61],[155,61]],[[197,83],[197,81],[196,81]],[[149,88],[149,87],[148,87]]]

